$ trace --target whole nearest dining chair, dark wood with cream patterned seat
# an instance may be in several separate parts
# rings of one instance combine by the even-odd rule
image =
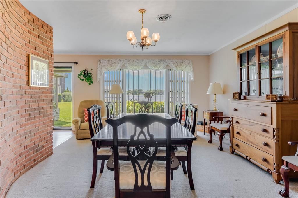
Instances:
[[[108,160],[107,167],[114,170],[116,198],[170,197],[170,171],[179,167],[179,161],[175,158],[175,154],[171,153],[171,126],[177,121],[176,118],[168,119],[152,114],[126,115],[106,121],[113,126],[114,131],[114,153]],[[126,145],[129,160],[119,161],[118,127],[126,122],[134,125],[134,133]],[[166,126],[165,161],[154,160],[158,144],[154,135],[150,133],[149,125],[156,122]],[[148,154],[145,145],[154,147],[155,150]],[[131,147],[137,147],[137,152],[132,153]],[[144,160],[139,160],[140,158]]]

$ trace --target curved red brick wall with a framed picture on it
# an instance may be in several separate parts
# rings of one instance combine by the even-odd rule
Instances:
[[[52,151],[53,29],[19,1],[0,0],[0,197]],[[28,86],[28,54],[49,60],[50,86]]]

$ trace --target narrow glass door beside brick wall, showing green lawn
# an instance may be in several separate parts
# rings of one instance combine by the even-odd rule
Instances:
[[[54,67],[54,129],[72,130],[72,67]]]

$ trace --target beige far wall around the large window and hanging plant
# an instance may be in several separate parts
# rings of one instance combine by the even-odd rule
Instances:
[[[190,102],[198,104],[198,118],[201,119],[203,109],[208,109],[209,96],[206,95],[209,86],[209,56],[124,56],[124,55],[54,55],[54,62],[78,62],[74,66],[74,116],[77,117],[77,108],[80,101],[88,99],[100,99],[100,83],[97,78],[97,62],[99,59],[190,59],[193,62],[194,82],[191,82]],[[77,78],[80,70],[88,68],[92,70],[94,82],[88,85]]]

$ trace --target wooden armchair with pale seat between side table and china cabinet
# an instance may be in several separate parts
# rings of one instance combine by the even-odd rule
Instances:
[[[222,118],[229,118],[229,120],[226,121],[227,124],[221,124],[221,123],[218,123],[219,122],[219,119],[222,119]],[[223,145],[222,145],[222,142],[223,142],[223,138],[224,138],[224,135],[226,133],[230,133],[230,137],[231,137],[231,122],[232,122],[232,117],[225,117],[225,116],[215,116],[213,117],[213,119],[217,119],[217,122],[216,123],[211,123],[209,125],[209,141],[208,143],[211,144],[212,143],[212,132],[215,133],[215,131],[218,131],[218,138],[219,138],[219,147],[218,147],[218,150],[223,150]],[[230,138],[230,141],[231,141],[231,138]]]

